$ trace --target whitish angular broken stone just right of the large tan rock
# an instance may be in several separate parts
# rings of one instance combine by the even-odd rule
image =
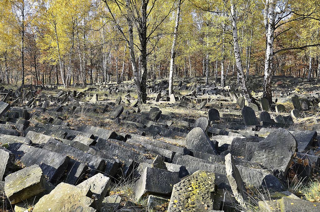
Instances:
[[[85,180],[84,182],[78,184],[77,187],[82,187],[85,190],[90,190],[94,195],[92,207],[100,210],[102,201],[107,195],[110,183],[111,180],[109,177],[103,176],[101,173],[98,173]]]

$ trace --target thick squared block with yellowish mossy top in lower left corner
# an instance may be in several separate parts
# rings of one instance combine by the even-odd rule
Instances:
[[[4,191],[10,203],[15,204],[43,192],[44,181],[41,168],[32,165],[6,176]]]

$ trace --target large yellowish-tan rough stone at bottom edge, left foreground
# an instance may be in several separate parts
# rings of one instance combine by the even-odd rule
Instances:
[[[49,194],[44,195],[33,208],[33,212],[96,212],[92,208],[92,192],[67,183],[60,183]]]

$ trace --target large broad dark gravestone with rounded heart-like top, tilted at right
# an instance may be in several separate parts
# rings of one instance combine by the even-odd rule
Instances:
[[[251,154],[246,154],[244,159],[260,163],[281,178],[287,174],[297,146],[293,135],[279,128],[258,143],[247,143],[246,151]]]

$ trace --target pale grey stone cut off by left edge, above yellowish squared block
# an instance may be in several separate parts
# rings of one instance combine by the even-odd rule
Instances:
[[[2,181],[6,175],[12,173],[14,160],[15,155],[11,151],[0,147],[0,181]]]

